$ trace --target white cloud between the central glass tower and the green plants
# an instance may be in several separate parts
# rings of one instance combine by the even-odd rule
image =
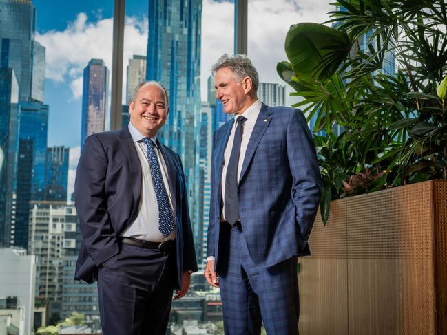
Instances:
[[[206,80],[211,66],[224,53],[233,54],[233,3],[203,1],[202,12],[202,100],[207,98]],[[260,81],[280,83],[276,64],[287,60],[284,40],[293,24],[323,23],[334,7],[328,0],[251,0],[248,3],[248,56],[259,72]]]

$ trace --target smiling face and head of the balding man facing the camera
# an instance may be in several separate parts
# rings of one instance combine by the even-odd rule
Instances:
[[[153,138],[165,124],[169,114],[165,91],[156,83],[138,90],[135,101],[129,104],[130,122],[144,136]]]

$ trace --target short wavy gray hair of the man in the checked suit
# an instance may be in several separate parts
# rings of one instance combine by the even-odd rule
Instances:
[[[235,54],[234,56],[229,56],[228,54],[223,54],[220,56],[216,64],[211,67],[211,72],[213,76],[218,72],[219,69],[223,67],[228,67],[231,72],[236,76],[236,78],[242,81],[245,77],[250,77],[253,83],[253,90],[258,91],[259,87],[259,76],[258,71],[253,66],[245,54]]]

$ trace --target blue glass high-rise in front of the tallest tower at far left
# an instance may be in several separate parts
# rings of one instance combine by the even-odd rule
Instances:
[[[20,103],[14,246],[28,248],[30,201],[45,197],[48,105]]]

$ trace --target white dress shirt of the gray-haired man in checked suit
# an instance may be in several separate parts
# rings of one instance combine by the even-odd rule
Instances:
[[[242,164],[244,162],[245,158],[245,151],[247,151],[247,146],[249,144],[249,140],[251,137],[251,133],[253,133],[253,128],[255,127],[256,120],[258,119],[259,112],[261,110],[262,104],[260,100],[256,100],[256,102],[253,103],[249,108],[247,108],[244,113],[240,114],[247,118],[247,120],[244,122],[244,129],[242,132],[242,142],[240,142],[240,155],[239,155],[239,162],[238,162],[238,184],[240,180],[240,171],[242,171]],[[228,162],[230,160],[231,156],[231,150],[233,149],[233,142],[234,142],[234,131],[236,130],[236,119],[239,114],[234,114],[234,125],[231,128],[231,133],[228,138],[227,147],[225,148],[224,152],[224,166],[222,169],[222,199],[225,199],[225,180],[227,179],[227,168],[228,168]],[[226,221],[225,220],[225,201],[223,202],[222,206],[222,213],[220,215],[220,221]]]

